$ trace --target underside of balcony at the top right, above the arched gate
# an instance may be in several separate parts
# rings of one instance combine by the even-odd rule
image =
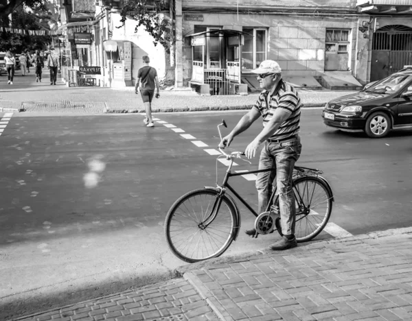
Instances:
[[[411,0],[357,0],[359,12],[367,14],[411,14]]]

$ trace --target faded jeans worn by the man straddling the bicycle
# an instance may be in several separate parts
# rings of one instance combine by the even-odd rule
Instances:
[[[256,189],[258,190],[259,214],[266,211],[273,192],[273,180],[276,176],[279,194],[279,211],[282,233],[295,234],[295,195],[293,195],[293,167],[299,159],[302,145],[299,136],[279,143],[264,143],[260,153],[259,169],[273,168],[273,171],[258,173]]]

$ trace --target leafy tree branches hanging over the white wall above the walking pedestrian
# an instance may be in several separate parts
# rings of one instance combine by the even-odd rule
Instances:
[[[123,27],[127,19],[137,21],[135,32],[140,26],[154,38],[155,46],[160,43],[170,53],[170,24],[163,13],[169,10],[168,0],[122,0],[120,15]]]

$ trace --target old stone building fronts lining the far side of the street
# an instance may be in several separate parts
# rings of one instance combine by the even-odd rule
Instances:
[[[286,80],[307,88],[358,88],[412,64],[412,0],[171,0],[164,12],[172,21],[171,54],[144,29],[135,32],[137,21],[119,27],[119,5],[62,5],[61,28],[78,53],[71,67],[101,67],[95,75],[101,86],[133,86],[144,55],[165,82],[209,84],[212,95],[258,88],[251,70],[265,59],[277,60]],[[90,43],[76,41],[79,30],[91,34]],[[115,47],[105,48],[108,40]],[[216,87],[225,81],[228,91]]]

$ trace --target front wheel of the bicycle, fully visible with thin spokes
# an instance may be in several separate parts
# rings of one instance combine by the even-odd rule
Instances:
[[[233,241],[236,210],[225,195],[196,189],[181,196],[165,219],[165,237],[179,259],[194,263],[220,256]]]

